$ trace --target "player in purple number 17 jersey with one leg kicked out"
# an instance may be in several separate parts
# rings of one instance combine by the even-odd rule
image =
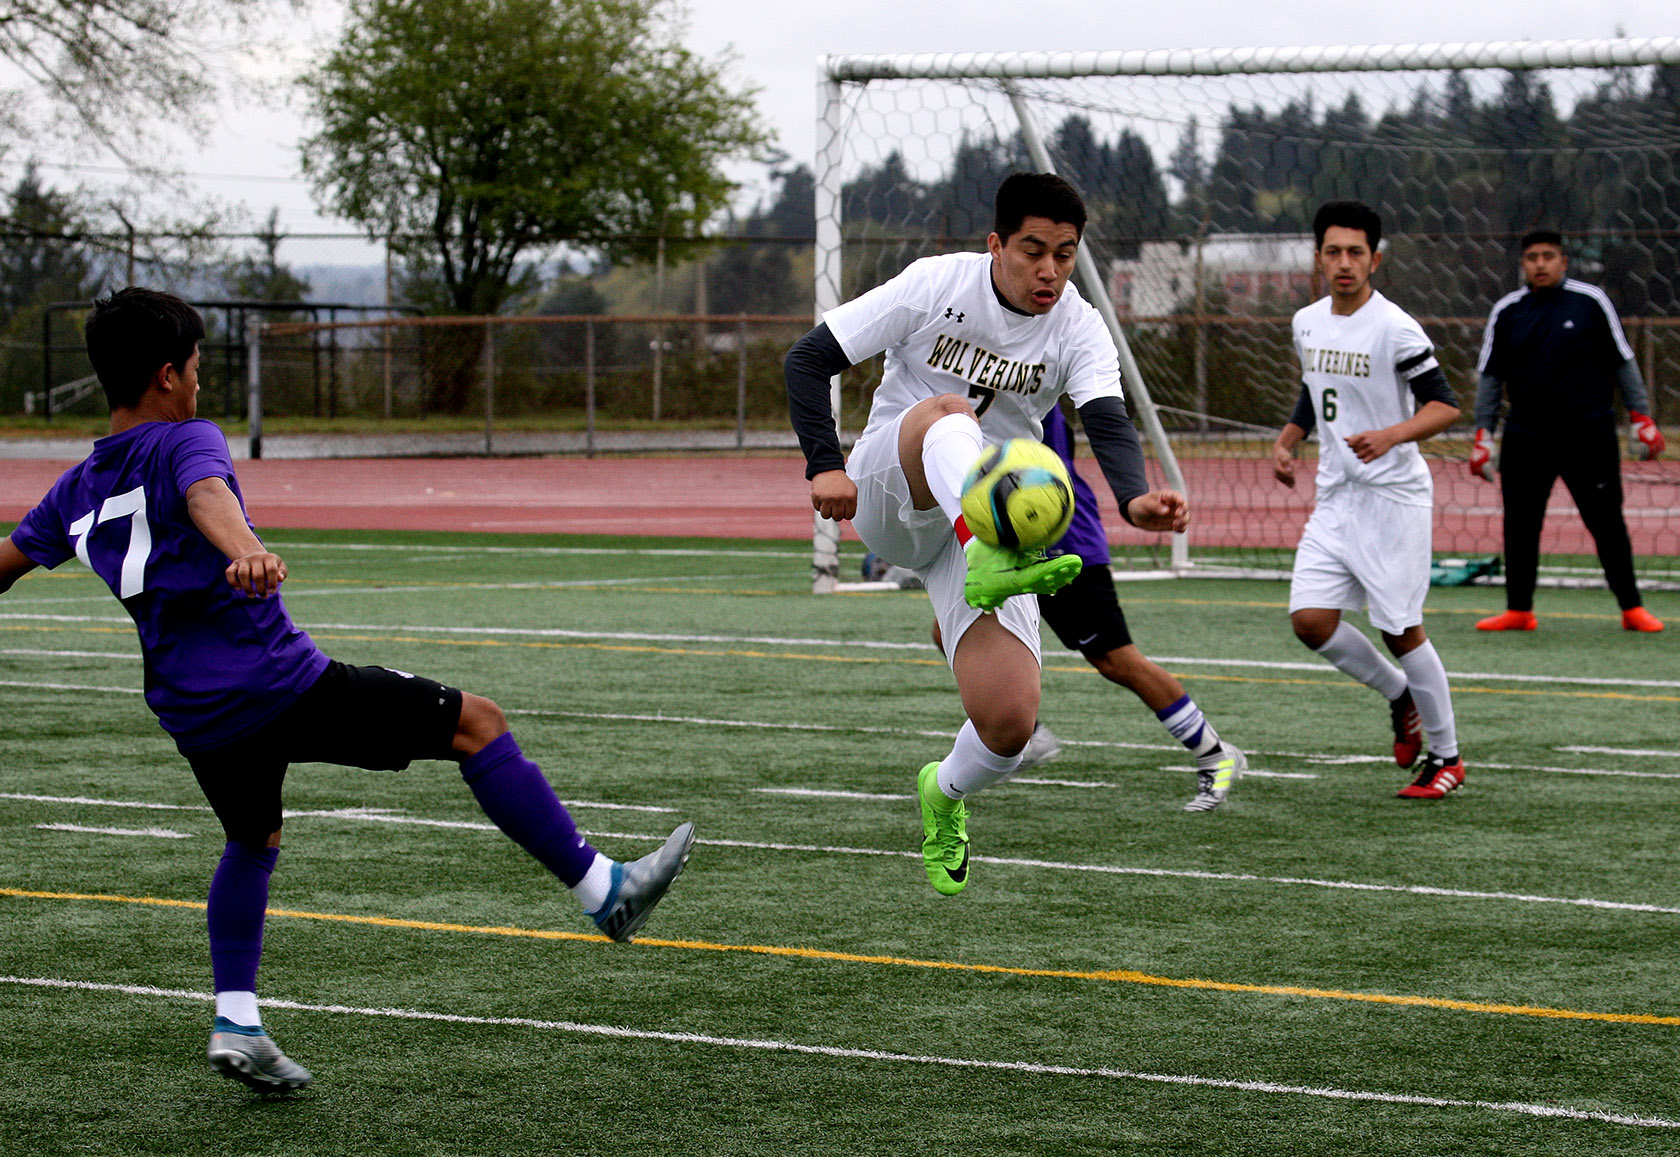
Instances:
[[[287,764],[459,762],[484,814],[615,940],[642,927],[682,872],[694,825],[640,860],[608,860],[578,835],[494,702],[316,648],[281,601],[286,563],[245,517],[227,440],[193,416],[203,332],[171,294],[124,289],[94,304],[87,356],[111,403],[111,435],[0,541],[0,591],[79,558],[133,616],[146,705],[227,833],[210,880],[210,1065],[286,1092],[307,1085],[309,1071],[262,1029],[255,989]]]

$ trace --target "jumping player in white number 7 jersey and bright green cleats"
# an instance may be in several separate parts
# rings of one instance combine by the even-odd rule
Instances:
[[[1126,413],[1119,351],[1068,284],[1085,228],[1079,193],[1053,173],[998,186],[984,254],[924,257],[828,311],[786,358],[788,408],[811,507],[852,519],[864,542],[922,579],[968,720],[917,776],[922,863],[942,895],[968,883],[966,796],[1010,776],[1038,719],[1038,603],[1079,574],[1077,556],[990,547],[963,522],[961,490],[986,442],[1040,437],[1067,393],[1121,514],[1183,531],[1189,505],[1151,490]],[[828,380],[885,351],[869,423],[840,453]],[[1025,596],[1025,598],[1023,598]]]

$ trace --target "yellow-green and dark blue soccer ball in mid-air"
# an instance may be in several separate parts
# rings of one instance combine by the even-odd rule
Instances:
[[[1032,438],[986,447],[963,484],[963,521],[986,546],[1037,551],[1074,521],[1074,482],[1055,450]]]

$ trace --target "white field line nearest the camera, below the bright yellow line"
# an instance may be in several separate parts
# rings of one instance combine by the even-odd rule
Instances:
[[[66,981],[39,976],[0,976],[0,984],[15,984],[42,989],[69,989],[82,992],[119,992],[123,996],[148,996],[180,1001],[198,1001],[208,1004],[215,1001],[210,992],[193,992],[190,989],[163,989],[146,984],[97,984],[92,981]],[[1341,1102],[1376,1102],[1383,1105],[1418,1105],[1425,1108],[1473,1108],[1492,1113],[1517,1113],[1524,1117],[1542,1117],[1551,1120],[1601,1122],[1606,1125],[1630,1125],[1636,1128],[1680,1128],[1680,1120],[1665,1117],[1646,1117],[1640,1113],[1608,1113],[1601,1110],[1569,1108],[1566,1105],[1537,1105],[1529,1102],[1482,1102],[1460,1100],[1450,1097],[1431,1097],[1425,1093],[1384,1093],[1359,1088],[1332,1088],[1322,1085],[1278,1085],[1262,1080],[1231,1080],[1220,1076],[1196,1076],[1193,1073],[1146,1073],[1126,1068],[1087,1068],[1075,1065],[1047,1065],[1042,1061],[998,1061],[973,1056],[937,1056],[927,1053],[899,1053],[875,1048],[842,1048],[838,1044],[801,1044],[796,1041],[776,1041],[763,1038],[709,1036],[704,1033],[670,1033],[660,1029],[625,1028],[622,1024],[585,1024],[580,1021],[546,1021],[528,1016],[469,1016],[464,1013],[430,1013],[423,1009],[400,1008],[358,1008],[353,1004],[314,1004],[306,1001],[262,999],[264,1008],[291,1009],[294,1013],[326,1013],[331,1016],[380,1016],[403,1021],[432,1021],[444,1024],[479,1024],[487,1028],[529,1028],[546,1033],[571,1033],[576,1036],[605,1036],[630,1041],[657,1041],[664,1044],[685,1044],[726,1050],[751,1050],[759,1053],[795,1053],[801,1056],[823,1056],[842,1061],[874,1061],[882,1065],[921,1065],[932,1068],[961,1068],[995,1073],[1021,1073],[1028,1076],[1068,1076],[1077,1080],[1109,1081],[1142,1081],[1152,1085],[1181,1085],[1193,1088],[1216,1088],[1236,1093],[1265,1093],[1272,1097],[1314,1097]]]

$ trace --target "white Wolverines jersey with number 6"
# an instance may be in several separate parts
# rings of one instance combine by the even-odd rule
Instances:
[[[1408,505],[1433,505],[1435,484],[1416,442],[1361,462],[1346,438],[1381,430],[1416,413],[1411,380],[1440,366],[1435,344],[1404,309],[1373,291],[1342,317],[1320,297],[1295,312],[1300,380],[1319,425],[1319,494],[1344,485],[1381,487]]]

